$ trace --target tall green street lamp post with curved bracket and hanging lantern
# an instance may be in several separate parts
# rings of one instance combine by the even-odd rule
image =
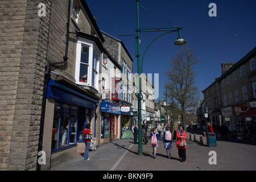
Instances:
[[[136,45],[137,45],[137,53],[136,53],[136,57],[137,57],[137,61],[138,61],[138,75],[140,76],[142,73],[142,64],[141,64],[141,55],[140,55],[140,36],[139,33],[140,32],[160,32],[160,31],[164,31],[163,34],[159,35],[158,37],[156,37],[154,40],[158,39],[160,36],[168,34],[170,32],[174,32],[177,31],[179,33],[179,36],[175,42],[176,46],[182,46],[184,45],[186,42],[183,38],[181,38],[181,27],[166,27],[166,28],[139,28],[139,0],[136,0],[137,2],[137,35],[135,36],[136,38]],[[152,40],[152,42],[154,42],[154,40]],[[152,42],[147,46],[147,48],[152,44]],[[146,51],[147,51],[146,48]],[[146,52],[145,51],[145,52]],[[145,54],[144,52],[144,54]],[[144,57],[143,54],[143,57]],[[142,57],[142,62],[143,62],[143,57]],[[142,129],[141,129],[141,125],[142,125],[142,119],[141,119],[141,99],[142,99],[142,93],[141,93],[141,77],[139,77],[139,93],[137,93],[138,96],[138,126],[139,126],[139,134],[138,134],[138,155],[143,155],[143,150],[142,150]]]

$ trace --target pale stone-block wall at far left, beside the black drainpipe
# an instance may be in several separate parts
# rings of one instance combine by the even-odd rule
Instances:
[[[0,5],[0,170],[35,170],[51,1]]]

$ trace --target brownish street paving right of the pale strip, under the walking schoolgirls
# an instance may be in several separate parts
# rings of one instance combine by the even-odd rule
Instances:
[[[256,146],[251,144],[241,144],[226,141],[217,141],[217,147],[203,146],[197,142],[188,140],[187,160],[180,162],[175,141],[172,142],[171,159],[167,159],[166,151],[162,140],[156,152],[156,159],[152,158],[152,148],[150,144],[143,144],[143,156],[137,155],[138,145],[130,148],[125,157],[117,166],[117,170],[155,170],[155,171],[230,171],[230,170],[256,170]],[[216,152],[216,164],[213,163],[213,154]]]

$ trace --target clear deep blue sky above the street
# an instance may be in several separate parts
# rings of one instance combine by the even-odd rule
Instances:
[[[136,34],[137,3],[135,0],[86,0],[97,19],[100,30],[122,40],[133,57],[133,72],[137,73],[135,37],[118,36]],[[210,3],[216,3],[217,16],[210,17]],[[204,90],[221,76],[221,63],[237,62],[256,46],[255,0],[141,0],[139,4],[140,28],[183,27],[181,36],[199,56],[196,85],[203,100]],[[156,15],[154,15],[154,14]],[[161,18],[159,18],[160,16]],[[163,20],[164,19],[164,20]],[[171,24],[169,24],[169,23]],[[141,55],[159,32],[141,33]],[[175,46],[177,32],[166,34],[148,48],[143,61],[143,73],[159,73],[159,98],[163,100],[163,72],[170,67],[171,57],[181,48]],[[154,81],[154,80],[153,80]]]

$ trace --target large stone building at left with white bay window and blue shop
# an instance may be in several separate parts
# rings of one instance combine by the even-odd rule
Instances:
[[[86,123],[100,145],[108,52],[86,2],[0,4],[0,170],[48,170],[76,156]]]

